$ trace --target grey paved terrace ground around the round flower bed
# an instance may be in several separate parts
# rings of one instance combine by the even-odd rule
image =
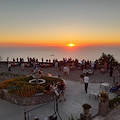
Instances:
[[[67,101],[58,102],[58,111],[62,120],[67,120],[68,117],[72,114],[75,117],[80,117],[80,113],[82,113],[82,104],[89,103],[92,108],[90,109],[90,113],[92,116],[96,115],[98,112],[98,102],[99,100],[95,100],[94,96],[89,98],[89,93],[93,91],[102,91],[105,90],[104,87],[100,88],[100,84],[102,82],[108,82],[110,85],[113,83],[113,78],[109,77],[109,73],[102,74],[100,70],[95,70],[94,74],[90,76],[90,83],[88,87],[88,93],[85,93],[84,84],[81,82],[80,74],[82,71],[73,70],[70,71],[69,76],[65,76],[63,71],[59,71],[58,68],[50,67],[50,68],[41,68],[43,70],[43,74],[47,75],[47,73],[51,73],[53,76],[61,75],[63,79],[66,80],[66,99]],[[8,72],[7,65],[1,65],[1,72]],[[29,75],[31,74],[32,68],[25,68],[25,71],[21,71],[20,66],[12,67],[11,73],[21,74],[21,75]],[[0,81],[4,81],[7,77],[0,76]],[[114,94],[109,94],[110,98],[114,97]],[[31,110],[33,108],[41,106],[33,105],[33,106],[17,106],[15,104],[11,104],[5,100],[0,99],[0,119],[1,120],[24,120],[24,110]],[[43,120],[45,117],[52,115],[54,113],[54,103],[50,103],[46,106],[39,107],[31,112],[29,112],[29,120],[34,120],[34,117],[37,116],[40,120]],[[96,119],[97,120],[97,119]],[[100,120],[100,119],[99,119]]]

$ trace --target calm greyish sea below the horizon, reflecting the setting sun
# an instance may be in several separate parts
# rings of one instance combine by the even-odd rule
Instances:
[[[63,58],[83,59],[95,61],[102,56],[102,53],[113,55],[120,62],[120,46],[82,46],[82,47],[0,47],[1,61],[12,61],[13,58],[23,58],[27,61],[27,57],[36,58],[39,62],[46,60]]]

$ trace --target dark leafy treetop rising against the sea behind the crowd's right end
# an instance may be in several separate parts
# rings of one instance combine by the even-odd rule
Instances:
[[[104,65],[105,62],[110,63],[110,65],[118,65],[118,61],[115,60],[113,55],[106,55],[105,53],[102,53],[102,56],[98,59],[98,62],[100,65]]]

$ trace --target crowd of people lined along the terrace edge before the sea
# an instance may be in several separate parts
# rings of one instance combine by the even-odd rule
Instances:
[[[54,67],[58,67],[59,70],[62,70],[62,66],[63,66],[63,71],[64,74],[69,75],[71,70],[74,70],[75,68],[79,69],[79,70],[83,70],[83,69],[91,69],[92,71],[94,71],[94,69],[98,69],[99,68],[99,62],[98,60],[95,61],[90,61],[90,60],[85,60],[83,59],[81,62],[78,61],[78,59],[72,59],[72,58],[63,58],[62,61],[58,61],[58,59],[53,59],[53,62],[51,62],[51,60],[46,60],[46,62],[44,62],[45,60],[42,58],[41,62],[39,62],[39,60],[37,58],[32,58],[32,57],[27,57],[27,62],[24,62],[23,58],[13,58],[13,61],[10,62],[9,61],[9,57],[7,57],[7,63],[8,63],[8,71],[11,71],[11,67],[15,66],[15,65],[20,65],[21,66],[21,70],[24,71],[25,67],[33,67],[33,69],[36,69],[37,67],[44,67],[44,66],[40,66],[41,64],[50,64],[50,66],[54,66]],[[49,66],[49,65],[48,65]],[[108,63],[107,61],[105,61],[104,67],[101,68],[101,73],[105,73],[106,71],[109,71],[110,76],[113,76],[113,72],[115,73],[115,77],[119,77],[119,73],[120,73],[120,67],[119,66],[112,66],[110,63]],[[45,65],[46,67],[46,65]]]

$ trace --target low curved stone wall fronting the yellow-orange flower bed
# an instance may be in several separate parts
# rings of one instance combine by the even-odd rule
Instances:
[[[30,98],[20,97],[17,95],[11,95],[11,94],[7,93],[7,91],[5,89],[1,91],[0,97],[1,97],[1,99],[7,100],[8,102],[17,104],[19,106],[29,106],[29,105],[46,103],[46,102],[55,100],[55,98],[56,98],[54,93],[52,93],[52,94],[39,93]]]

